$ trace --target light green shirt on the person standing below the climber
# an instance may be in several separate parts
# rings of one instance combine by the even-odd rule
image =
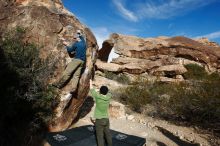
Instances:
[[[96,119],[108,118],[108,108],[109,108],[111,94],[108,93],[107,95],[102,95],[96,92],[95,89],[91,89],[90,94],[92,95],[96,103],[94,118]]]

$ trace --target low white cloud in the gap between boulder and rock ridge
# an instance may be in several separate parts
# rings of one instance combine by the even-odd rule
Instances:
[[[99,48],[102,47],[102,43],[104,40],[107,40],[109,35],[111,34],[110,30],[106,27],[96,27],[92,28],[92,31],[96,37]]]

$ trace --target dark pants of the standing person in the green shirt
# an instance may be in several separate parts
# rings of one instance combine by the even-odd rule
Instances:
[[[112,136],[109,129],[109,119],[96,119],[96,139],[98,146],[104,146],[105,139],[108,146],[112,146]]]

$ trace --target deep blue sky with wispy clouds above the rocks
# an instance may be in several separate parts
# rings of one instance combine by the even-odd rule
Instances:
[[[220,0],[62,0],[95,34],[207,37],[220,43]]]

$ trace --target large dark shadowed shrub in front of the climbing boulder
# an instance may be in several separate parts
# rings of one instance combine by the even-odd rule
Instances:
[[[46,85],[55,63],[50,57],[40,59],[39,48],[24,42],[24,35],[18,27],[0,38],[0,131],[8,133],[1,136],[0,145],[5,146],[31,145],[57,102],[56,92]]]

